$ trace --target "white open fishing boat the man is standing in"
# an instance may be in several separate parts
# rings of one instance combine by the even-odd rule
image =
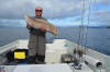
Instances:
[[[45,64],[10,63],[9,52],[28,50],[28,39],[19,39],[0,47],[0,72],[110,72],[110,56],[68,39],[54,39],[46,44]],[[82,56],[76,53],[78,50],[75,52],[76,46]]]

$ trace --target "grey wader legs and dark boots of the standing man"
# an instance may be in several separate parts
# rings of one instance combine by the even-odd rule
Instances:
[[[29,61],[34,62],[45,60],[45,35],[35,35],[30,33],[29,40]]]

